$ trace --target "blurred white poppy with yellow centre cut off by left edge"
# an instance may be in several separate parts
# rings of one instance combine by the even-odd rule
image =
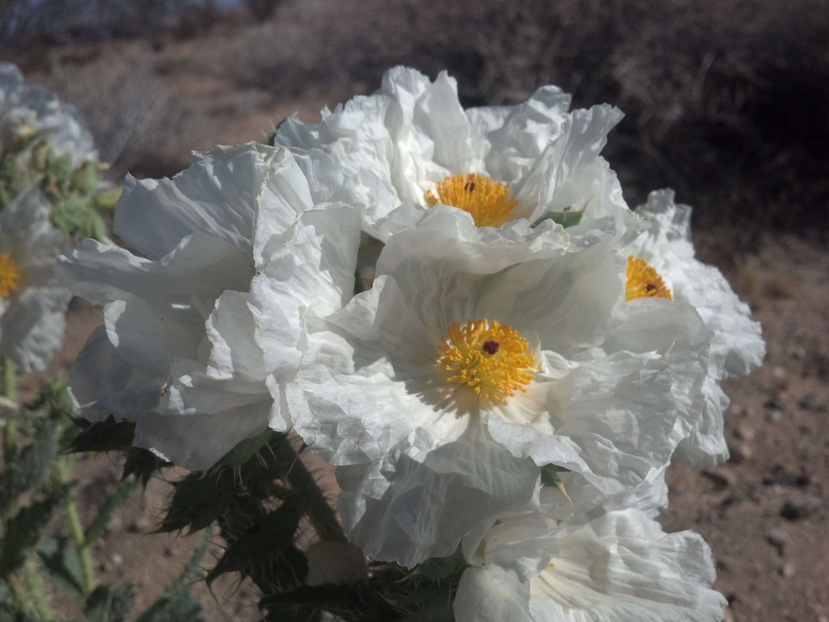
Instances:
[[[72,298],[55,275],[68,241],[51,226],[50,210],[31,188],[0,211],[0,356],[23,373],[45,369],[61,349]]]

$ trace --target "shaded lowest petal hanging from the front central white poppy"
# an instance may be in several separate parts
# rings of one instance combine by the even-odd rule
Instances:
[[[538,475],[473,421],[452,442],[419,429],[381,460],[339,467],[338,503],[351,542],[411,567],[454,552],[485,518],[524,507]]]

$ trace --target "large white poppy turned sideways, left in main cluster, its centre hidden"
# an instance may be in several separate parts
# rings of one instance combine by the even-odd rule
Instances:
[[[82,415],[137,420],[135,445],[206,469],[240,440],[291,425],[284,381],[303,313],[354,287],[361,211],[316,205],[284,148],[194,153],[172,179],[128,177],[114,231],[145,258],[84,241],[61,265],[104,326],[75,362]]]

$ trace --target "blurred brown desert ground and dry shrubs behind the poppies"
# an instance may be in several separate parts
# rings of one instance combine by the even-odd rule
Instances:
[[[0,20],[0,59],[80,109],[114,180],[266,142],[289,114],[318,119],[398,64],[448,70],[467,106],[545,84],[574,107],[617,105],[626,117],[604,156],[628,204],[673,187],[693,206],[698,255],[768,342],[763,367],[725,382],[730,461],[672,465],[660,520],[710,543],[726,620],[829,622],[829,2],[0,0]],[[73,301],[51,373],[100,321]],[[90,517],[119,465],[87,459],[75,477]],[[153,480],[94,552],[99,576],[136,584],[136,611],[199,539],[148,535],[170,491]],[[245,584],[195,591],[203,622],[259,619]]]

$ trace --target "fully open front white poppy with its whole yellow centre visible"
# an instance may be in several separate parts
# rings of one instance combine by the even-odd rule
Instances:
[[[351,465],[340,509],[366,555],[448,555],[527,503],[538,465],[609,494],[667,464],[710,332],[688,304],[624,306],[615,224],[570,241],[550,221],[481,228],[434,207],[390,237],[371,290],[309,331],[288,406],[315,453]]]

